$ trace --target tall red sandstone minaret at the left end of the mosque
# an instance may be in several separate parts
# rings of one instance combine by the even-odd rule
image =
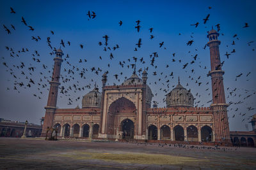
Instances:
[[[54,112],[56,110],[57,97],[58,97],[58,88],[60,85],[60,69],[61,62],[63,62],[62,55],[63,52],[61,49],[56,50],[56,56],[54,60],[54,67],[52,72],[52,80],[50,83],[49,96],[47,101],[47,106],[45,106],[45,117],[44,125],[42,129],[41,137],[45,137],[47,127],[52,127]]]

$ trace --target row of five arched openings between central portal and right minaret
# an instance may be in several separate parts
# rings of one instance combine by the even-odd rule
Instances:
[[[168,125],[163,125],[157,129],[156,125],[149,125],[147,128],[148,140],[166,140],[166,141],[214,141],[214,132],[208,125],[197,129],[195,125],[189,125],[187,128],[181,125],[175,125],[170,129]]]

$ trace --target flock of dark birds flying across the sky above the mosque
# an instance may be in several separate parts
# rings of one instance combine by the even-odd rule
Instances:
[[[211,8],[209,8],[210,10]],[[12,13],[13,15],[17,15],[16,12],[13,10],[13,8],[10,8],[10,13]],[[88,11],[87,13],[88,16],[88,20],[96,20],[97,19],[97,15],[94,11]],[[207,21],[209,21],[210,18],[210,14],[208,14],[205,18],[203,18],[202,20],[204,21],[203,24],[206,24]],[[24,17],[21,17],[21,22],[22,24],[24,24],[24,26],[28,27],[28,31],[35,31],[35,28],[31,25],[28,25],[28,22],[25,20]],[[122,20],[120,20],[118,23],[116,23],[117,25],[119,25],[120,27],[122,27],[122,25],[124,24],[124,22]],[[196,22],[195,24],[191,24],[192,26],[198,27],[198,25],[200,25],[200,22]],[[15,26],[14,25],[10,25],[11,28],[8,28],[8,26],[3,24],[3,28],[6,31],[7,34],[12,34],[13,31],[15,31]],[[218,32],[220,31],[220,24],[215,25],[216,29],[218,30]],[[248,23],[245,23],[243,28],[246,29],[246,27],[249,27]],[[135,22],[134,25],[134,29],[137,32],[141,31],[141,21],[137,20]],[[148,31],[150,32],[150,37],[149,39],[154,39],[154,28],[150,27],[148,29]],[[56,48],[52,47],[51,45],[51,36],[54,36],[54,31],[49,31],[50,36],[47,36],[47,38],[41,38],[40,36],[31,36],[31,41],[42,41],[42,39],[46,39],[46,43],[47,46],[49,46],[51,52],[49,53],[50,55],[54,56],[54,52],[56,52]],[[179,35],[181,35],[179,33]],[[222,33],[222,35],[224,35]],[[191,40],[189,40],[188,42],[186,42],[187,46],[192,46],[194,43],[194,37],[193,37],[193,32],[191,33],[190,36]],[[236,40],[239,40],[237,34],[235,34],[233,36],[233,38],[236,38]],[[249,41],[248,42],[248,46],[252,45],[252,43],[254,43],[254,41]],[[235,45],[236,42],[235,40],[232,41],[232,45]],[[72,43],[70,41],[64,41],[63,39],[60,40],[60,46],[62,46],[62,48],[65,48],[67,46],[71,46]],[[102,46],[102,50],[104,50],[104,52],[108,52],[109,53],[109,63],[108,65],[108,69],[111,70],[111,67],[113,67],[113,65],[111,65],[111,60],[113,60],[115,58],[114,55],[114,51],[120,49],[120,45],[116,44],[115,46],[109,46],[109,36],[108,35],[104,35],[102,36],[102,40],[99,41],[98,43],[99,46]],[[58,45],[57,45],[58,46]],[[134,46],[134,51],[138,51],[138,48],[141,48],[143,46],[143,40],[141,38],[138,39],[138,42],[135,44]],[[228,45],[227,45],[228,46]],[[38,90],[38,92],[34,92],[32,95],[35,96],[38,99],[42,99],[42,96],[47,96],[47,94],[43,94],[42,89],[47,89],[49,90],[49,83],[48,81],[51,80],[51,73],[52,73],[52,69],[50,67],[47,66],[47,64],[44,64],[41,62],[40,59],[40,52],[38,52],[38,50],[31,50],[29,48],[20,48],[20,50],[14,50],[14,48],[12,46],[6,46],[5,47],[6,50],[8,52],[10,52],[10,57],[12,58],[16,58],[20,60],[20,64],[12,64],[11,62],[7,62],[5,60],[5,57],[2,57],[3,60],[3,66],[6,67],[6,71],[10,72],[11,77],[13,78],[13,87],[7,87],[7,90],[17,90],[17,92],[20,92],[20,88],[24,88],[24,89],[29,89],[32,86],[36,87],[36,89]],[[83,49],[84,45],[80,44],[79,48]],[[164,41],[161,41],[159,43],[159,48],[163,48],[164,50],[166,50],[166,46],[164,46]],[[203,47],[203,49],[205,50],[206,45]],[[253,51],[255,50],[254,48],[252,49]],[[195,48],[195,52],[198,52],[198,48]],[[25,55],[32,55],[32,64],[31,63],[26,63],[24,61],[21,60],[20,55],[22,54]],[[191,51],[188,52],[189,55],[191,55]],[[227,56],[227,59],[230,58],[230,55],[232,55],[233,53],[236,53],[236,50],[232,50],[232,52],[226,52],[225,55]],[[92,72],[93,74],[96,74],[97,76],[101,76],[102,74],[102,69],[100,67],[97,66],[92,66],[91,68],[88,67],[79,67],[77,66],[77,63],[72,64],[70,62],[70,55],[65,55],[63,56],[64,58],[64,62],[63,62],[63,66],[61,68],[61,76],[60,76],[60,82],[61,82],[61,86],[60,86],[60,97],[67,97],[67,104],[68,105],[72,105],[76,102],[81,101],[82,96],[78,96],[76,98],[74,98],[73,96],[70,96],[70,94],[74,94],[76,92],[81,92],[84,91],[86,89],[92,89],[93,85],[91,84],[93,81],[95,80],[86,80],[88,81],[88,85],[84,85],[83,83],[81,83],[81,81],[86,79],[86,74],[89,74],[90,72]],[[145,70],[152,70],[152,69],[157,69],[157,65],[156,65],[156,60],[159,57],[159,53],[154,52],[154,53],[150,53],[149,55],[150,57],[150,62],[148,63],[147,60],[145,60],[143,57],[131,57],[127,60],[120,60],[118,62],[119,66],[121,68],[123,67],[127,67],[128,69],[136,69],[136,62],[140,62],[140,64],[144,64],[143,66]],[[99,56],[99,60],[102,60],[103,57]],[[196,85],[200,86],[202,84],[204,84],[204,82],[202,81],[202,76],[193,76],[193,74],[195,74],[195,64],[199,63],[198,66],[200,67],[200,69],[207,69],[206,66],[202,66],[202,63],[198,60],[198,53],[191,55],[191,61],[190,62],[184,62],[183,59],[179,58],[177,56],[177,53],[173,52],[171,53],[171,59],[170,61],[172,63],[177,63],[180,64],[181,69],[184,69],[184,71],[186,73],[189,74],[188,79],[191,81],[195,81]],[[87,60],[86,59],[78,59],[78,64],[80,63],[86,63]],[[223,60],[223,62],[221,62],[220,66],[223,66],[225,60]],[[40,64],[41,66],[38,66],[36,64]],[[190,70],[188,70],[188,67],[191,67]],[[116,67],[116,66],[114,66]],[[163,66],[162,66],[163,67]],[[166,63],[166,68],[170,67],[170,64]],[[15,70],[17,70],[15,72]],[[26,71],[25,71],[26,70]],[[36,71],[39,71],[40,76],[37,78],[37,80],[34,80],[32,78],[32,75],[35,73],[38,73]],[[138,69],[138,73],[142,73],[143,68],[139,68]],[[106,71],[106,73],[110,73],[109,71]],[[113,76],[118,82],[120,82],[120,76],[122,76],[124,73],[120,72],[120,73],[116,73],[116,74],[112,74],[109,76]],[[191,75],[192,74],[192,75]],[[18,76],[19,75],[19,76]],[[175,87],[175,85],[170,85],[170,79],[174,78],[174,73],[173,71],[170,74],[166,74],[166,73],[158,73],[157,71],[152,71],[152,75],[153,76],[157,76],[158,81],[154,81],[154,82],[150,82],[149,85],[157,85],[157,87],[159,87],[159,90],[163,90],[163,92],[165,92],[166,94],[168,93],[169,90],[172,90],[173,87]],[[251,75],[251,73],[241,73],[238,74],[236,76],[236,81],[239,80],[239,78],[241,76],[246,76],[249,77]],[[77,80],[78,78],[81,78],[79,81]],[[127,77],[125,77],[125,80],[127,79]],[[116,85],[114,83],[114,85]],[[160,87],[161,85],[163,85],[163,87]],[[211,85],[211,82],[209,83],[209,81],[207,83],[205,83],[205,85]],[[188,87],[189,84],[186,83],[186,87]],[[214,89],[216,90],[216,89]],[[255,90],[240,90],[240,92],[237,92],[238,88],[227,88],[227,92],[228,94],[226,94],[227,99],[230,99],[231,97],[239,97],[239,101],[230,101],[228,104],[229,105],[238,105],[241,103],[244,103],[245,99],[248,99],[249,97],[252,97],[253,95],[255,95]],[[189,89],[190,92],[190,89]],[[207,93],[208,96],[210,96],[211,94],[211,87],[205,89],[205,92]],[[84,92],[79,93],[80,94],[84,94]],[[154,93],[154,96],[157,96],[157,92]],[[204,104],[201,104],[201,101],[199,100],[201,95],[199,93],[195,94],[196,97],[196,102],[195,102],[195,106],[204,106]],[[231,99],[230,99],[231,100]],[[212,101],[212,100],[211,100]],[[208,101],[207,103],[211,103],[211,101]],[[165,102],[165,97],[163,99],[163,102]],[[203,103],[204,101],[202,101]],[[153,103],[155,104],[155,106],[158,104],[157,101],[153,101]],[[255,108],[253,107],[248,107],[247,108],[248,111],[251,110],[255,110]],[[235,110],[233,110],[233,108],[230,108],[230,111],[232,111],[232,113],[234,113],[234,115],[232,117],[236,116],[236,111],[239,111],[239,106],[237,106],[237,108]],[[244,115],[246,115],[246,113],[239,113],[239,115],[241,115],[241,117],[243,117]],[[248,117],[247,119],[250,120],[251,117]],[[245,118],[243,118],[242,122],[245,120]]]

